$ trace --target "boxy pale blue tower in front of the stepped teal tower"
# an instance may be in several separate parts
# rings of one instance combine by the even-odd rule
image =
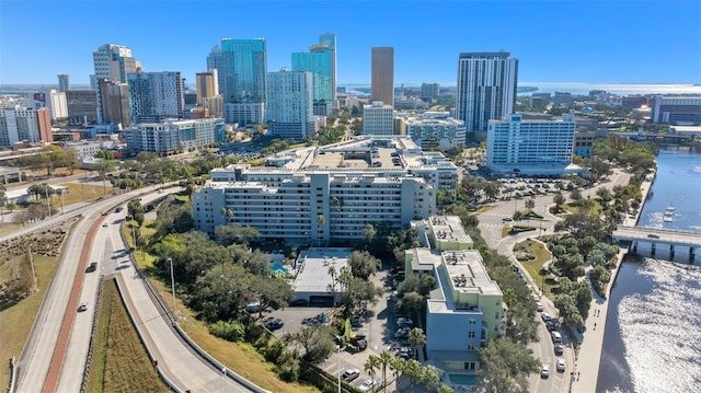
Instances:
[[[271,136],[302,140],[317,132],[311,72],[268,72],[267,91],[265,118]]]

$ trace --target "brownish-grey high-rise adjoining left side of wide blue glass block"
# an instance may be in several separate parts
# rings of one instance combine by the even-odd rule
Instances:
[[[129,106],[129,84],[111,82],[101,79],[97,83],[99,111],[97,122],[117,124],[123,128],[131,126],[131,108]]]

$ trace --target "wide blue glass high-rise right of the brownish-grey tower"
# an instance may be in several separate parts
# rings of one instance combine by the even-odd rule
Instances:
[[[136,72],[127,76],[131,124],[182,119],[185,97],[180,72]]]

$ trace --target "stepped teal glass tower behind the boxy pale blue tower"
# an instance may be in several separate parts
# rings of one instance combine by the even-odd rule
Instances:
[[[309,53],[292,54],[292,71],[309,71],[313,85],[313,113],[329,116],[333,108],[333,50],[325,45],[312,45]]]

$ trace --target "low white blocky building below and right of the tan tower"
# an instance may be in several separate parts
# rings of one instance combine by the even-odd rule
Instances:
[[[399,132],[411,137],[422,149],[464,147],[466,127],[448,112],[399,115]]]

